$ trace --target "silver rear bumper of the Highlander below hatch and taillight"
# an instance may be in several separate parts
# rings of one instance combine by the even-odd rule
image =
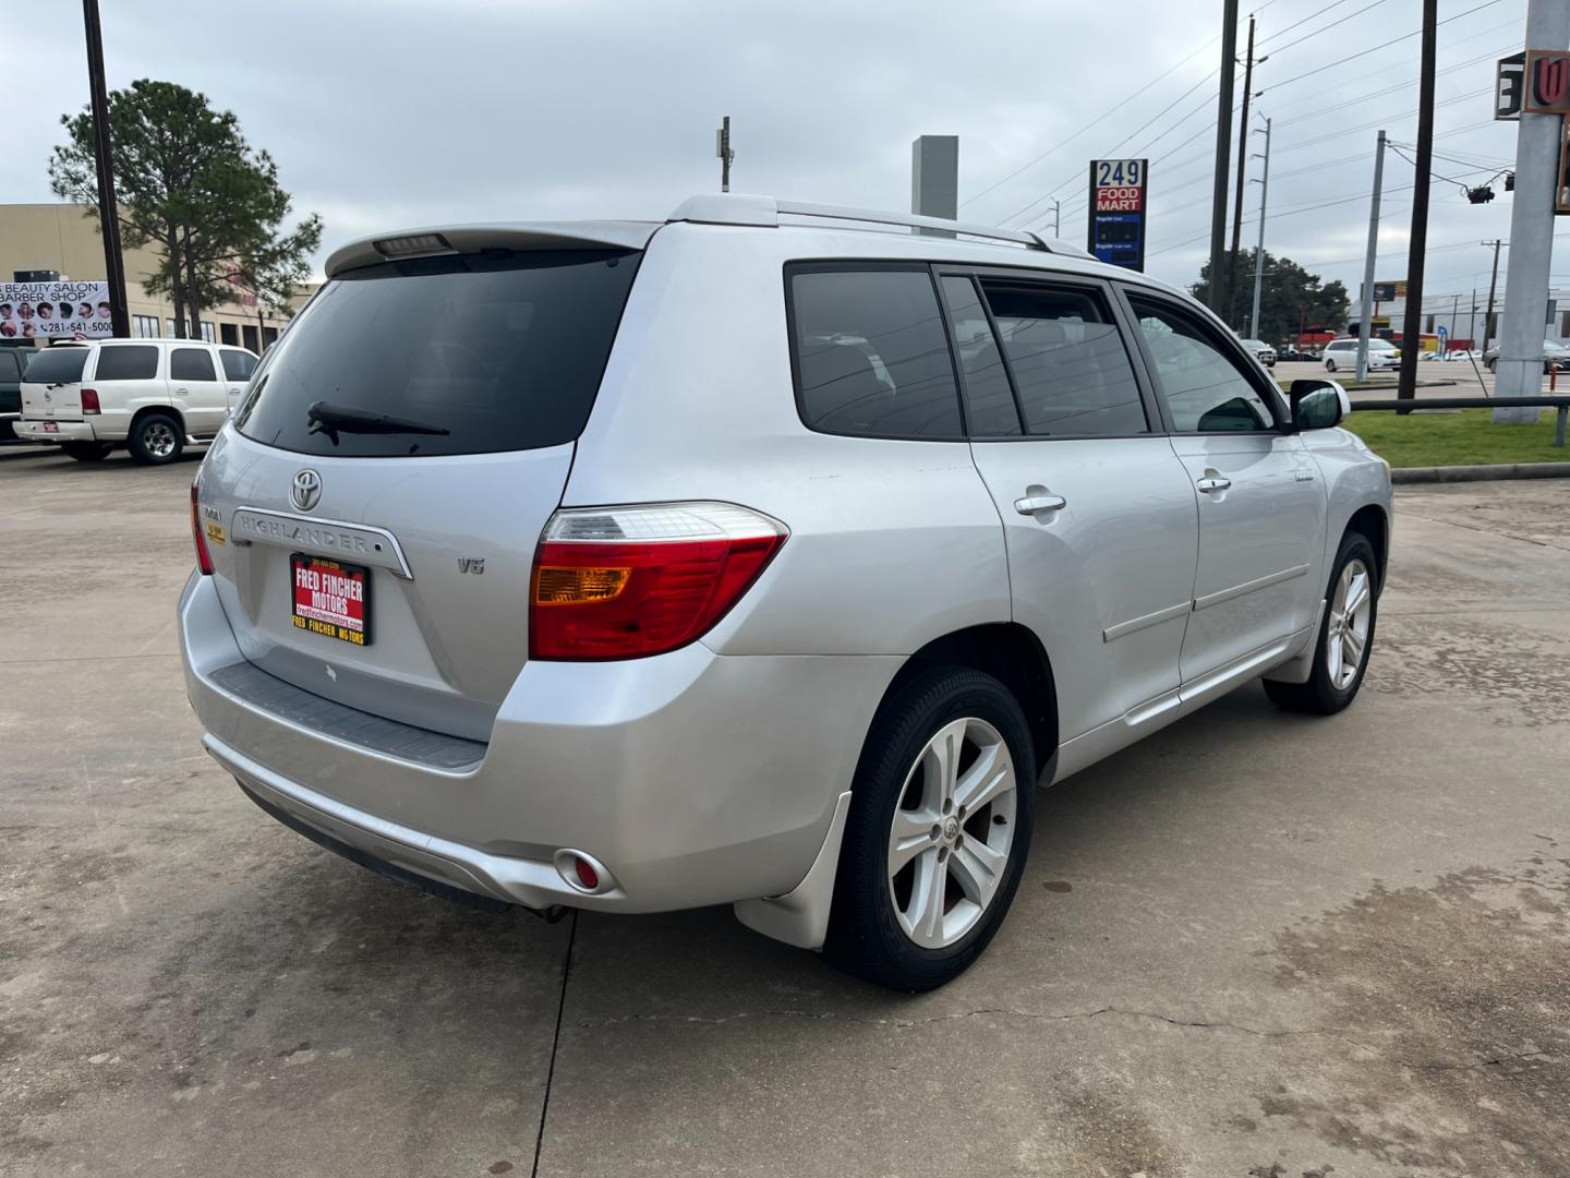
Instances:
[[[369,858],[529,908],[650,913],[790,892],[901,663],[719,657],[700,642],[531,663],[480,760],[447,770],[226,691],[214,675],[243,657],[210,578],[187,583],[179,620],[203,743],[248,792]],[[568,884],[559,850],[593,856],[612,886]]]

